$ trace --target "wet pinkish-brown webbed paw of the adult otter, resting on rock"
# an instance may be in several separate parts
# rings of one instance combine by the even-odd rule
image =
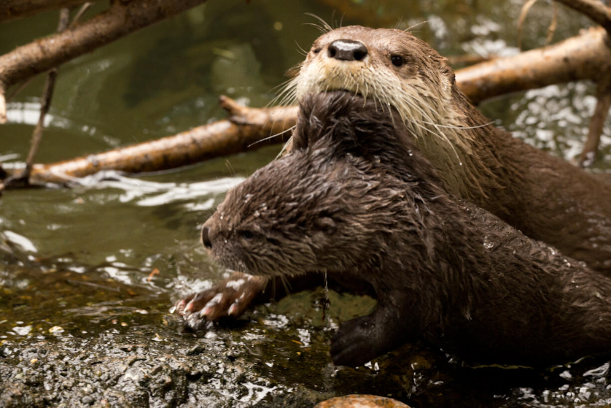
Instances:
[[[178,301],[174,313],[185,319],[186,326],[199,330],[207,321],[217,321],[223,316],[240,316],[266,284],[266,278],[234,272],[212,288]]]

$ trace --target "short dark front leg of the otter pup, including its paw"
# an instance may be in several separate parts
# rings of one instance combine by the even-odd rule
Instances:
[[[331,341],[331,358],[335,365],[356,367],[390,351],[414,337],[415,325],[401,315],[396,305],[378,304],[368,316],[360,316],[340,325]]]

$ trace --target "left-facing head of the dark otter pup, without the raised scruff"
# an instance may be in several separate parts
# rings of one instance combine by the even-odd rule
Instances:
[[[268,276],[343,271],[365,261],[366,241],[354,243],[365,231],[349,221],[360,209],[349,201],[353,191],[342,190],[354,175],[327,162],[326,152],[312,153],[273,161],[227,192],[202,228],[214,261]],[[354,246],[360,251],[348,250]]]

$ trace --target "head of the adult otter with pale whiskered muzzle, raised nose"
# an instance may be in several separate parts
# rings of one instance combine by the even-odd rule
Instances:
[[[397,29],[348,26],[315,40],[293,86],[298,100],[329,90],[373,98],[397,108],[404,122],[427,128],[455,114],[454,84],[445,58],[419,38]]]

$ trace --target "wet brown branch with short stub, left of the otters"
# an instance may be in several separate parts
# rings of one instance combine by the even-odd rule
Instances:
[[[286,141],[288,131],[295,125],[297,117],[297,108],[292,106],[253,109],[240,106],[227,97],[221,97],[221,105],[229,112],[229,120],[219,120],[175,136],[97,155],[53,164],[36,164],[32,168],[30,183],[66,184],[73,178],[109,169],[128,173],[153,172],[255,150]],[[270,136],[273,137],[260,142]],[[5,171],[11,175],[21,170]]]

